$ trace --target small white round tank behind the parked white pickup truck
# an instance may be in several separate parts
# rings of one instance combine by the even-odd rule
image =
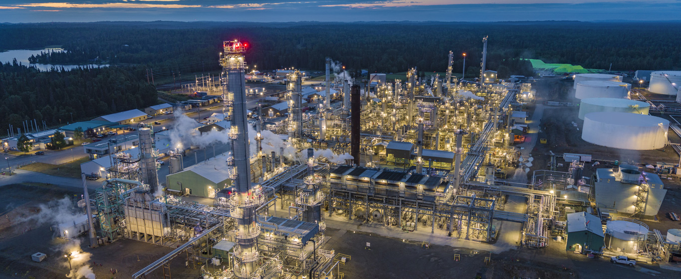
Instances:
[[[610,250],[635,254],[639,239],[648,238],[648,227],[643,223],[627,220],[612,220],[605,224],[605,246]]]

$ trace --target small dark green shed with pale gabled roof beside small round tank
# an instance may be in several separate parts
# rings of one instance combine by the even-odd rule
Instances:
[[[567,214],[567,239],[565,250],[583,252],[601,251],[605,245],[601,219],[586,212]]]

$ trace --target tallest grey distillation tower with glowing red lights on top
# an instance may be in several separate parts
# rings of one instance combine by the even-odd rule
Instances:
[[[223,91],[234,95],[232,109],[232,127],[229,137],[232,139],[232,156],[234,168],[229,177],[236,193],[229,198],[232,203],[230,214],[236,219],[237,246],[234,254],[237,263],[234,267],[234,276],[249,278],[258,267],[259,253],[257,250],[257,237],[260,234],[260,226],[257,222],[255,209],[259,206],[258,199],[253,195],[251,188],[251,164],[249,162],[249,134],[248,120],[246,116],[246,61],[244,52],[246,46],[238,40],[223,42],[223,54],[220,56],[220,65],[223,68],[222,81]]]

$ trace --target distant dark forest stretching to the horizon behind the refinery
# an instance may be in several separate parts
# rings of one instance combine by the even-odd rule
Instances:
[[[381,22],[234,23],[99,22],[0,24],[0,49],[61,45],[67,52],[33,58],[41,63],[148,64],[155,76],[219,69],[221,42],[251,42],[247,59],[257,69],[323,69],[329,56],[349,69],[399,72],[454,69],[477,74],[481,38],[489,35],[488,69],[513,73],[542,59],[586,68],[615,70],[681,67],[680,22]],[[503,68],[502,68],[503,69]]]

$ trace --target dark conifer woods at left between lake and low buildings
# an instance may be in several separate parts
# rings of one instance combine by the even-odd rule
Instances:
[[[156,90],[143,72],[138,67],[41,72],[0,64],[0,119],[14,127],[29,119],[59,125],[70,122],[71,114],[82,120],[155,105]]]

